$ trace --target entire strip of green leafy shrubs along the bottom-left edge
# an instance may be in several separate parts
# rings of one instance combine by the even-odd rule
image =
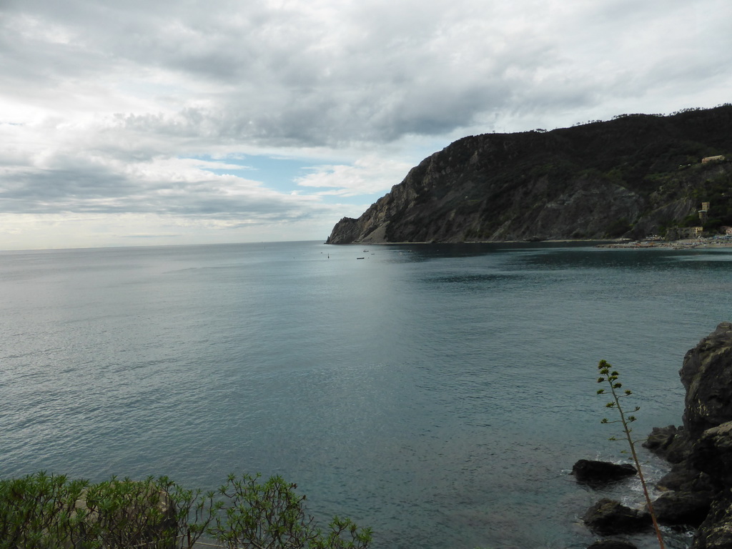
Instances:
[[[324,533],[282,477],[233,475],[214,492],[167,477],[91,484],[44,471],[0,480],[0,549],[184,549],[204,534],[228,548],[366,549],[369,529],[335,517]]]

